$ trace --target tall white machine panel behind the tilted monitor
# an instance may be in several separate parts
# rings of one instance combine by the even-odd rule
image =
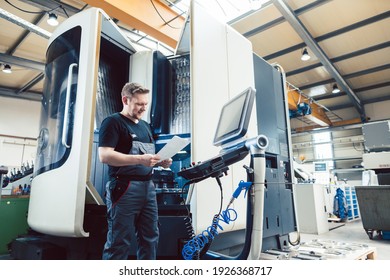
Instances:
[[[191,8],[191,89],[192,89],[192,161],[204,161],[219,153],[212,145],[222,106],[248,87],[254,88],[252,45],[226,23],[219,22],[196,1]],[[256,110],[253,110],[248,133],[257,135]],[[245,161],[245,159],[244,159]],[[246,172],[240,162],[221,178],[224,205],[228,203]],[[249,164],[249,156],[245,161]],[[197,233],[211,225],[218,213],[220,190],[215,179],[197,183],[191,200],[193,225]],[[236,200],[239,219],[223,225],[224,232],[245,226],[246,200]]]

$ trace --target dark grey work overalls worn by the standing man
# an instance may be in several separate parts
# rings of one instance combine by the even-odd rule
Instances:
[[[133,155],[154,153],[154,144],[139,141],[133,141],[129,152]],[[106,191],[108,234],[103,259],[128,259],[131,242],[135,242],[132,240],[134,232],[138,243],[137,259],[156,259],[158,210],[150,174],[118,176],[110,180]]]

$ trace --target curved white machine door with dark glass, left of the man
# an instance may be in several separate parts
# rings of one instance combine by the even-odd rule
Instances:
[[[119,62],[114,59],[117,49],[101,44],[103,34],[106,41],[133,50],[120,29],[97,8],[65,20],[49,40],[27,219],[33,230],[44,234],[87,237],[85,205],[104,203],[90,181],[100,54],[105,49],[103,61],[123,61],[124,66],[118,67],[123,73],[128,73],[123,69],[128,68],[129,56]],[[111,60],[107,53],[113,54]],[[106,104],[105,100],[99,104]]]

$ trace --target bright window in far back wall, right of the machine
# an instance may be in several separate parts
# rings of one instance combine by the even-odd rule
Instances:
[[[328,167],[333,169],[333,144],[330,132],[313,134],[314,158],[328,163]]]

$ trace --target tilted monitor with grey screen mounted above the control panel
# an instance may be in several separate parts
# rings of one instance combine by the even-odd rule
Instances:
[[[255,92],[253,88],[249,87],[222,107],[214,137],[215,146],[225,145],[245,136]]]

